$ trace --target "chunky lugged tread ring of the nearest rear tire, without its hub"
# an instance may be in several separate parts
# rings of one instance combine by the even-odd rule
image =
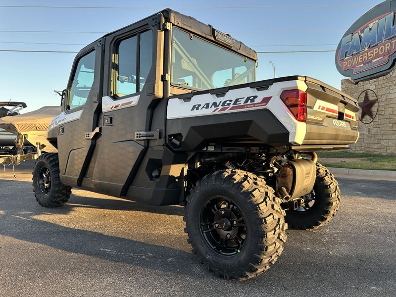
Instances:
[[[194,245],[191,238],[189,216],[190,203],[203,187],[208,186],[208,181],[227,185],[242,195],[254,213],[257,224],[261,225],[260,232],[256,234],[259,244],[256,252],[251,257],[251,261],[246,266],[235,271],[224,271],[214,267],[205,257],[200,255],[198,247]],[[274,264],[278,256],[282,253],[283,244],[286,242],[287,223],[284,220],[285,211],[280,206],[281,200],[274,195],[274,191],[265,184],[265,181],[254,174],[242,170],[221,170],[208,174],[199,180],[190,191],[185,205],[184,221],[186,222],[185,232],[188,235],[187,242],[192,246],[192,252],[198,255],[199,262],[205,268],[214,272],[215,275],[225,279],[245,280],[255,277],[269,269],[270,264]]]

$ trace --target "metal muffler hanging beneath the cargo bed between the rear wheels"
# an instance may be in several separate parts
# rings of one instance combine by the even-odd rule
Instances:
[[[276,192],[285,202],[311,193],[316,179],[316,165],[312,160],[288,160],[279,170]]]

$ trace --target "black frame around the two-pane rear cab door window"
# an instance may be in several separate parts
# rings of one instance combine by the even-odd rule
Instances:
[[[134,31],[134,32],[128,32],[126,34],[117,36],[115,38],[115,40],[112,42],[112,46],[111,46],[111,54],[110,54],[110,81],[109,81],[109,92],[110,92],[110,97],[114,100],[119,100],[119,99],[126,99],[126,98],[130,98],[130,97],[134,97],[137,95],[140,95],[143,91],[144,88],[142,88],[142,90],[137,91],[138,89],[140,89],[140,35],[142,33],[145,33],[147,31],[151,31],[151,68],[152,69],[152,65],[155,62],[154,58],[153,58],[153,50],[154,50],[154,32],[150,27],[143,27],[143,28],[139,28],[138,30]],[[136,91],[133,94],[128,94],[125,96],[118,96],[116,94],[117,92],[117,76],[118,76],[118,48],[119,45],[122,41],[128,39],[128,38],[132,38],[136,36]],[[117,55],[117,60],[115,61],[115,55]],[[115,67],[113,65],[117,66],[117,69],[114,69]],[[149,77],[146,78],[146,82],[148,81]],[[151,80],[150,80],[151,81]]]

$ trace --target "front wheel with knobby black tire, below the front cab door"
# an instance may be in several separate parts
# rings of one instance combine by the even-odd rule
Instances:
[[[33,192],[44,207],[57,207],[70,198],[71,188],[59,179],[59,161],[56,153],[40,155],[33,167]]]

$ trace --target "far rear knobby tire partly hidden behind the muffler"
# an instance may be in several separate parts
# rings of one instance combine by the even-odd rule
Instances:
[[[314,230],[326,225],[340,208],[340,188],[334,175],[325,166],[316,163],[313,186],[314,201],[305,211],[287,210],[285,220],[289,228]]]

